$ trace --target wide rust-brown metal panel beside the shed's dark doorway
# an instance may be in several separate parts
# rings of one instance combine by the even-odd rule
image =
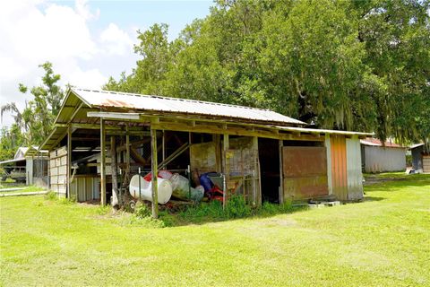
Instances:
[[[325,147],[284,146],[282,150],[286,199],[329,195]]]

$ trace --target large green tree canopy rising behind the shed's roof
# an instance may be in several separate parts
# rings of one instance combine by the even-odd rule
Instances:
[[[269,108],[318,127],[428,142],[428,0],[224,0],[105,89]]]

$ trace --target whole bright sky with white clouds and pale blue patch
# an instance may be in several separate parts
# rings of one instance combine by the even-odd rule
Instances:
[[[169,25],[168,38],[193,19],[204,18],[212,1],[47,1],[0,3],[0,105],[15,102],[23,109],[30,94],[18,84],[39,85],[49,61],[61,84],[98,89],[109,76],[130,73],[139,59],[133,53],[137,30]],[[1,125],[13,117],[4,114]]]

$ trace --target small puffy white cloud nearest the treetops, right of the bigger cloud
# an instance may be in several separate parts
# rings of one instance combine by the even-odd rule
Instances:
[[[100,42],[103,48],[111,55],[125,55],[133,51],[133,41],[130,36],[118,28],[115,23],[110,23],[106,30],[100,34]]]

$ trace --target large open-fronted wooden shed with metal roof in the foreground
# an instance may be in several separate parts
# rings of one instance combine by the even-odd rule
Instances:
[[[371,134],[305,126],[268,109],[73,88],[41,148],[51,188],[78,201],[107,204],[139,169],[223,174],[225,204],[235,193],[248,204],[361,199],[359,139]]]

